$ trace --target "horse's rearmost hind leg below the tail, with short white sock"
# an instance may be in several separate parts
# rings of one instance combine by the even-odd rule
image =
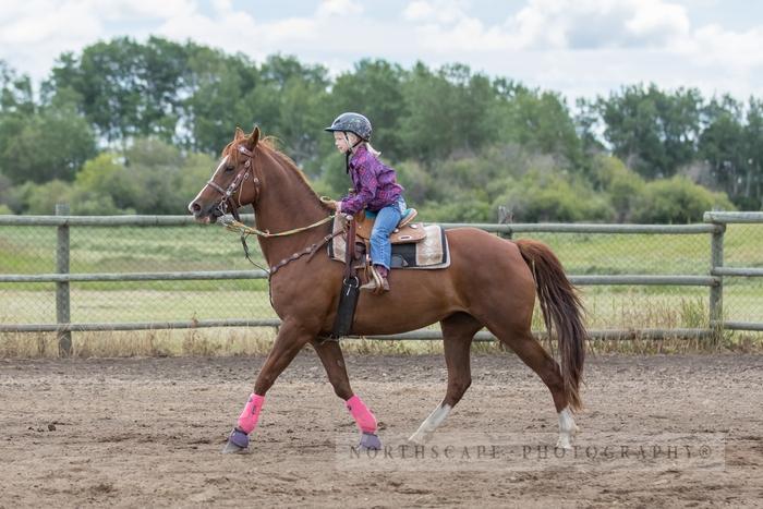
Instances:
[[[494,331],[495,334],[495,331]],[[498,336],[498,335],[496,335]],[[559,364],[537,342],[530,330],[500,335],[498,339],[519,355],[519,357],[541,377],[554,398],[554,405],[559,415],[559,440],[557,447],[572,448],[572,440],[578,426],[572,419],[572,412],[568,408],[565,386],[559,369]]]

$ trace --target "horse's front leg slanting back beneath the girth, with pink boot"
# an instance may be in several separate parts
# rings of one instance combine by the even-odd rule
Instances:
[[[363,400],[352,392],[350,377],[347,375],[344,357],[339,342],[328,340],[318,343],[313,341],[313,347],[326,368],[326,375],[328,375],[328,381],[331,383],[334,391],[344,400],[344,405],[362,433],[360,447],[380,449],[382,441],[376,435],[376,416],[368,410]]]

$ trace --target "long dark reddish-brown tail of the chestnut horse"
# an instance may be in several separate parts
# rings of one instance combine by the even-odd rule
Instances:
[[[548,336],[552,337],[553,328],[559,341],[567,401],[572,410],[580,410],[583,403],[578,386],[583,374],[586,338],[580,296],[567,279],[559,258],[546,244],[526,239],[514,243],[533,272]]]

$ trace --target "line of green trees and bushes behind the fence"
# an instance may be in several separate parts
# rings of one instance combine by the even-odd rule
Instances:
[[[235,126],[258,124],[339,196],[349,180],[323,128],[342,111],[428,220],[686,222],[761,209],[763,101],[626,85],[570,107],[463,64],[322,65],[152,37],[64,52],[37,94],[0,61],[0,211],[183,214]],[[147,192],[147,191],[150,192]]]

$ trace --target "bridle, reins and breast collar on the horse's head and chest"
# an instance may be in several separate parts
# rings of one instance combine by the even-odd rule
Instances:
[[[294,233],[300,233],[305,230],[313,229],[315,227],[318,227],[320,225],[325,225],[329,222],[330,220],[334,219],[335,215],[331,214],[328,217],[325,217],[324,219],[320,219],[318,221],[313,222],[312,225],[307,225],[306,227],[302,228],[294,228],[291,230],[278,232],[278,233],[270,233],[269,231],[265,230],[258,230],[256,228],[247,227],[246,225],[241,222],[241,218],[239,217],[239,211],[238,209],[242,207],[243,205],[241,204],[241,191],[243,189],[243,184],[249,180],[250,178],[252,179],[252,185],[254,185],[255,190],[255,198],[259,195],[259,179],[254,174],[254,153],[246,147],[239,145],[238,150],[240,154],[243,154],[246,156],[246,161],[244,162],[244,169],[239,171],[239,174],[235,175],[233,181],[228,185],[228,189],[223,190],[219,184],[214,182],[211,179],[207,181],[207,185],[217,191],[222,195],[220,202],[215,206],[215,209],[220,213],[220,216],[226,216],[227,214],[230,213],[231,216],[233,216],[234,221],[226,221],[222,220],[223,225],[228,230],[232,231],[239,231],[241,233],[241,244],[244,249],[244,256],[246,259],[254,265],[255,267],[258,267],[266,272],[268,272],[268,278],[272,277],[274,274],[278,271],[281,267],[284,265],[288,265],[291,262],[294,262],[302,256],[310,255],[308,260],[315,255],[315,253],[320,249],[322,246],[326,245],[328,241],[334,239],[335,237],[339,235],[342,233],[342,230],[329,233],[328,235],[324,237],[320,242],[314,243],[308,245],[307,247],[298,251],[296,253],[292,254],[291,256],[281,259],[279,263],[276,265],[272,265],[269,269],[266,269],[258,264],[256,264],[252,258],[250,257],[250,251],[249,251],[249,245],[246,245],[246,238],[251,234],[257,235],[257,237],[263,237],[263,238],[271,238],[271,237],[287,237],[287,235],[292,235]],[[238,198],[235,202],[233,201],[233,195],[239,191]],[[238,206],[237,206],[238,205]]]

